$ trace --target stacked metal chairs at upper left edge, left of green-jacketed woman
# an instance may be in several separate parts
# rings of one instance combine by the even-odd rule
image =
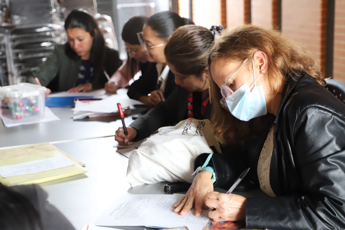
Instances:
[[[30,4],[27,0],[7,0],[6,5],[2,2],[1,6],[11,12],[1,15],[2,35],[6,41],[6,46],[1,49],[0,37],[0,50],[5,51],[5,58],[0,58],[7,80],[4,85],[26,82],[32,71],[46,60],[54,45],[66,41],[59,4],[56,0],[30,0]],[[3,59],[6,59],[6,65]]]

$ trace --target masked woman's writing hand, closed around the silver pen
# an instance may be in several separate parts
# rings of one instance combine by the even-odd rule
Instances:
[[[205,203],[212,210],[208,212],[208,217],[214,221],[245,220],[246,198],[243,196],[210,192]]]

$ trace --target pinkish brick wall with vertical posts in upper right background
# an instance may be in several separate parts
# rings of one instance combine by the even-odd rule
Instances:
[[[276,27],[280,1],[282,33],[308,49],[325,72],[327,61],[332,61],[326,60],[327,0],[193,0],[193,19],[205,27],[249,22]],[[345,0],[335,0],[332,77],[345,82]]]

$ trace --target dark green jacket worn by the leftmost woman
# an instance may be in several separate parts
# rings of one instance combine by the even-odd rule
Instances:
[[[47,60],[41,64],[35,73],[42,86],[47,87],[51,83],[48,88],[51,88],[52,91],[67,91],[76,86],[80,62],[80,57],[70,58],[66,55],[65,45],[57,44]],[[107,47],[103,65],[108,75],[111,76],[115,73],[121,64],[119,53]],[[55,77],[58,78],[55,79]],[[98,78],[96,77],[92,82],[92,89],[103,88],[107,81],[106,76],[101,71]],[[29,78],[28,82],[37,84],[33,78]]]

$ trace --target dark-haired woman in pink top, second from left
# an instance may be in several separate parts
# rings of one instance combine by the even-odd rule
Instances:
[[[144,47],[141,46],[137,36],[146,21],[147,17],[135,16],[124,24],[121,35],[126,45],[127,61],[111,76],[111,81],[105,84],[106,92],[115,93],[118,88],[126,87],[139,71],[141,76],[155,74],[150,73],[155,63],[147,61]]]

